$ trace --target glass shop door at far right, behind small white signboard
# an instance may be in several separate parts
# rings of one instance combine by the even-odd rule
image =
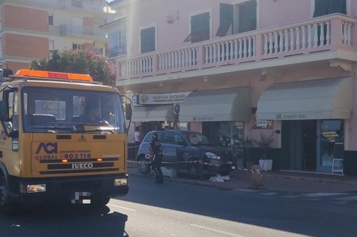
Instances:
[[[344,143],[343,120],[321,120],[317,171],[330,173],[335,153],[335,143]]]

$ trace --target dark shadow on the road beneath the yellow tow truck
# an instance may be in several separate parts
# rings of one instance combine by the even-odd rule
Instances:
[[[41,207],[0,215],[1,236],[123,236],[127,215],[89,206]]]

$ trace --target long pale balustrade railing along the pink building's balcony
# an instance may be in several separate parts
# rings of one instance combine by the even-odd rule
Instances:
[[[117,59],[118,79],[282,59],[313,52],[357,51],[356,19],[334,14],[280,27],[259,29],[171,50]]]

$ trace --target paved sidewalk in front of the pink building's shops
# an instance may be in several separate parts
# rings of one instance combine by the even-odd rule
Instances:
[[[143,175],[139,173],[136,164],[128,164],[129,175]],[[143,175],[153,178],[152,174]],[[230,180],[225,182],[211,182],[208,179],[189,179],[185,177],[169,178],[165,177],[165,182],[186,182],[193,185],[209,185],[224,189],[257,189],[251,185],[251,172],[243,169],[232,171],[229,175]],[[263,171],[262,183],[265,190],[283,192],[357,192],[357,177],[301,173],[293,171]]]

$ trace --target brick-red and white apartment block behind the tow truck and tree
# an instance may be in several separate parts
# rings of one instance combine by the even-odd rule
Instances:
[[[0,1],[0,62],[17,71],[53,50],[93,50],[106,54],[105,0]]]

